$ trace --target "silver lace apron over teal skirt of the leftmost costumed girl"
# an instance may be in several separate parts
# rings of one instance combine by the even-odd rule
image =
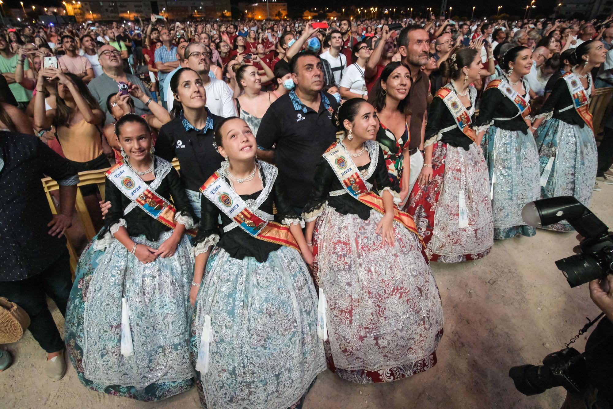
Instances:
[[[144,235],[135,243],[158,248]],[[194,376],[189,359],[189,291],[194,271],[191,245],[184,235],[168,258],[143,264],[114,240],[93,273],[83,331],[85,377],[98,383],[145,388],[154,382]],[[134,354],[120,354],[121,297],[128,300]]]

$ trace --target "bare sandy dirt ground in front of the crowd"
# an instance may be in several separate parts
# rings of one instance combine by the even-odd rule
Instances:
[[[591,208],[613,226],[613,185],[601,187]],[[539,364],[546,354],[563,348],[585,317],[598,315],[587,285],[569,288],[554,264],[572,254],[575,245],[575,234],[538,231],[535,237],[495,242],[492,253],[480,261],[433,263],[445,318],[438,364],[390,384],[352,384],[322,372],[304,408],[559,408],[562,388],[525,397],[514,388],[508,370]],[[54,316],[63,327],[57,310]],[[577,340],[577,349],[584,348],[585,339],[587,335]],[[63,380],[51,382],[45,377],[45,353],[29,332],[2,348],[13,354],[15,363],[0,373],[1,408],[200,407],[195,389],[154,403],[89,391],[72,365]]]

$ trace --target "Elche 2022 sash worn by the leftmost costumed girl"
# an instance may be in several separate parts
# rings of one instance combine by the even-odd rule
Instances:
[[[177,227],[175,222],[177,210],[175,207],[151,189],[129,166],[120,162],[107,170],[106,174],[113,185],[117,186],[121,193],[142,208],[145,213],[165,226],[172,229]],[[186,230],[185,232],[192,236],[196,235],[195,230]]]

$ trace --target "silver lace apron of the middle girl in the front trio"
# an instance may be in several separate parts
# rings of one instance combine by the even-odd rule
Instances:
[[[207,407],[286,409],[299,400],[326,369],[317,307],[298,251],[283,246],[261,263],[215,248],[193,324],[200,345],[205,316],[211,316],[208,372],[200,373]]]

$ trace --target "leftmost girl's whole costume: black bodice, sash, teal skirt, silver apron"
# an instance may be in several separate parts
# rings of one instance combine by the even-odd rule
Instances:
[[[122,163],[107,171],[112,206],[78,261],[66,310],[66,348],[79,380],[94,391],[145,401],[185,392],[194,377],[188,238],[172,256],[143,264],[112,235],[124,226],[135,243],[159,248],[176,223],[194,227],[177,171],[154,157],[154,175],[145,182]]]

